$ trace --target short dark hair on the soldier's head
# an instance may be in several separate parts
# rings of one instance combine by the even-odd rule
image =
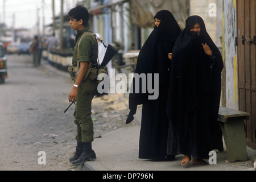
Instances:
[[[69,16],[75,18],[77,22],[82,20],[82,25],[87,26],[89,20],[88,10],[83,6],[77,6],[71,9],[68,13]]]

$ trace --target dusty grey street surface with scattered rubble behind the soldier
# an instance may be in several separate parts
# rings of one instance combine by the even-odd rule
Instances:
[[[7,55],[7,67],[9,77],[0,85],[0,170],[76,169],[68,162],[76,146],[75,105],[64,113],[73,85],[69,74],[45,60],[35,68],[30,55]],[[127,96],[118,96],[94,98],[95,138],[125,126]],[[43,156],[46,164],[39,164]]]

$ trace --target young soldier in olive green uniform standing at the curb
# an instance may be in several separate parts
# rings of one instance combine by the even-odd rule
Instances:
[[[77,146],[75,155],[69,159],[69,162],[76,166],[88,160],[96,159],[96,154],[92,150],[93,122],[91,110],[92,99],[97,89],[97,74],[90,70],[97,67],[98,44],[87,27],[88,10],[85,7],[77,6],[68,14],[71,16],[69,24],[73,30],[77,31],[72,61],[76,77],[75,84],[68,96],[69,102],[76,101],[74,122],[77,125]],[[87,74],[88,76],[85,78],[87,72],[89,75]]]

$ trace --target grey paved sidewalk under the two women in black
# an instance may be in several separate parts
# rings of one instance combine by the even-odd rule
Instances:
[[[93,150],[97,160],[86,162],[77,167],[81,171],[254,171],[253,163],[256,150],[247,147],[247,162],[227,163],[226,151],[216,152],[217,164],[181,166],[183,155],[177,155],[174,161],[153,161],[138,159],[139,131],[141,126],[127,126],[97,138]],[[225,147],[225,145],[224,145]],[[208,160],[207,160],[208,161]]]

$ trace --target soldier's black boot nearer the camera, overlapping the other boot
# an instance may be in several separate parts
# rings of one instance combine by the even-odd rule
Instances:
[[[96,159],[96,154],[92,150],[92,142],[82,142],[82,144],[83,144],[83,152],[80,155],[79,159],[72,162],[73,166],[84,164],[86,161]]]

